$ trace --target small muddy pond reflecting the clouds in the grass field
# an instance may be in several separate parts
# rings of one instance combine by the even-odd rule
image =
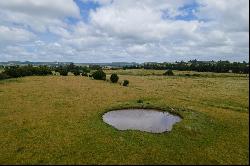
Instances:
[[[124,109],[107,112],[103,121],[118,130],[140,130],[151,133],[171,131],[181,118],[153,109]]]

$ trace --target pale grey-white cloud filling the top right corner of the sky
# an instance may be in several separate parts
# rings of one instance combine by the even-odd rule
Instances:
[[[196,15],[214,22],[212,28],[249,32],[248,0],[200,0]]]

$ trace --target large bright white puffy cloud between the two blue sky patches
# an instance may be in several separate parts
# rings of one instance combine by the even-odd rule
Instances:
[[[162,19],[163,10],[178,13],[178,7],[184,3],[176,2],[183,1],[114,1],[112,5],[92,11],[91,21],[109,35],[122,38],[158,40],[180,31],[195,31],[197,21]]]

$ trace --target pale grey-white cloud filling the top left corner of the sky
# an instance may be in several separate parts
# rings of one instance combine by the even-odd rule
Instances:
[[[44,32],[48,26],[65,26],[63,18],[80,18],[80,10],[73,0],[8,0],[0,1],[0,17],[2,24],[16,23]]]

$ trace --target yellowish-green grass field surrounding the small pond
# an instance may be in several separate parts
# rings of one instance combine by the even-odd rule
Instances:
[[[249,164],[248,76],[106,72],[129,86],[81,76],[0,81],[0,164]],[[170,110],[183,120],[162,134],[102,121],[104,112],[129,107]]]

